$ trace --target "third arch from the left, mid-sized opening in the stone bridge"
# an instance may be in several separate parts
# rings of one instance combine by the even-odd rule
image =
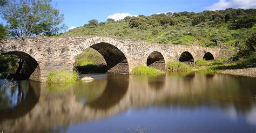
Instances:
[[[158,70],[165,70],[165,60],[163,54],[159,51],[153,51],[147,56],[147,66]]]

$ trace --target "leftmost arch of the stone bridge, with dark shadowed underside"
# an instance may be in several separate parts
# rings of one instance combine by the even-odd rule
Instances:
[[[30,50],[30,53],[32,53],[31,51],[32,50]],[[16,55],[19,58],[22,58],[24,60],[22,67],[24,78],[37,82],[41,81],[41,70],[39,64],[30,54],[27,54],[24,51],[8,51],[6,53],[2,53],[1,55]]]

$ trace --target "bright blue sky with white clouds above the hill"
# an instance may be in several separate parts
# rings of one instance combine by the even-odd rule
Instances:
[[[52,5],[64,14],[64,24],[72,29],[83,26],[91,19],[100,22],[107,18],[119,20],[139,14],[150,16],[180,11],[256,9],[256,0],[52,0]]]

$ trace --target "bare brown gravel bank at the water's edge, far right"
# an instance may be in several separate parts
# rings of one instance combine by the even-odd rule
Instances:
[[[228,74],[228,75],[256,77],[256,68],[227,69],[227,70],[220,70],[219,73]]]

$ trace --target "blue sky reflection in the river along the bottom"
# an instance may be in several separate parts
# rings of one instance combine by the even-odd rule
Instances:
[[[255,121],[255,117],[251,117]],[[242,116],[230,119],[218,108],[159,108],[130,109],[102,121],[73,124],[67,132],[125,132],[141,127],[148,132],[244,132],[254,131]],[[255,125],[254,125],[255,126]]]

